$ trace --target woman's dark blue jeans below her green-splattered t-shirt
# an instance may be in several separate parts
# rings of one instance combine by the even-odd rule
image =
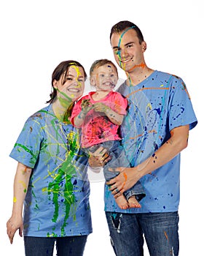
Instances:
[[[58,256],[82,256],[87,236],[58,238],[24,236],[26,256],[52,256],[55,241]]]

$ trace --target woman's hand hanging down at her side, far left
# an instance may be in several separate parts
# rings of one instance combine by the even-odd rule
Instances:
[[[12,244],[16,231],[19,230],[19,236],[23,236],[23,218],[12,216],[7,222],[7,235]]]

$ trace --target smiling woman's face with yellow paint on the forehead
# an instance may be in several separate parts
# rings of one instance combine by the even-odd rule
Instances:
[[[65,77],[66,75],[66,77]],[[74,102],[82,97],[85,89],[85,73],[82,67],[70,66],[68,71],[61,75],[60,80],[55,80],[58,99]]]

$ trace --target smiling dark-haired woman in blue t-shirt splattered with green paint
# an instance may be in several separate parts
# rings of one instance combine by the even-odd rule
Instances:
[[[17,230],[23,234],[28,256],[52,255],[55,242],[58,255],[83,255],[92,233],[87,158],[68,121],[86,78],[79,62],[61,62],[50,105],[28,118],[10,154],[18,164],[7,234],[11,244]]]

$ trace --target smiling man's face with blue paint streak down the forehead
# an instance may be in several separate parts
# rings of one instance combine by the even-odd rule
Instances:
[[[144,67],[144,49],[146,43],[139,43],[134,29],[126,29],[111,36],[111,47],[114,59],[125,72],[133,72],[136,67]]]

